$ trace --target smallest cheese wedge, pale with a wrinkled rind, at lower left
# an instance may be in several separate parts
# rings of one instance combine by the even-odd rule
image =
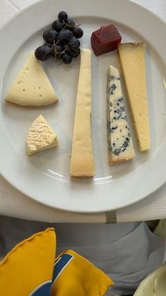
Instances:
[[[58,146],[56,133],[42,115],[32,122],[27,134],[27,155]]]

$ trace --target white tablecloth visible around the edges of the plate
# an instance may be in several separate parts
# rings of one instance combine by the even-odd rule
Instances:
[[[1,0],[0,26],[37,0]],[[166,20],[166,0],[133,0]],[[106,213],[77,214],[43,206],[24,196],[0,177],[0,215],[60,223],[106,223]],[[166,184],[143,201],[116,212],[117,222],[166,218]]]

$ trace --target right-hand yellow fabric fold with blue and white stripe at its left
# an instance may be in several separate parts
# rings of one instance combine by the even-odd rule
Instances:
[[[67,250],[55,262],[51,296],[101,296],[113,281],[75,251]]]

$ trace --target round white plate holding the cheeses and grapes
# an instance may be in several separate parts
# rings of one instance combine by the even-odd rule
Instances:
[[[72,129],[79,59],[71,65],[45,62],[44,68],[60,101],[49,107],[25,108],[4,101],[15,74],[30,50],[42,45],[42,32],[59,11],[82,23],[82,47],[90,47],[91,32],[113,23],[122,42],[145,41],[152,148],[136,159],[108,167],[106,138],[106,76],[108,66],[120,69],[117,52],[92,54],[92,136],[96,160],[94,179],[70,178]],[[145,8],[127,0],[47,0],[30,6],[0,32],[1,108],[0,170],[14,187],[32,199],[76,212],[109,211],[143,199],[165,181],[166,164],[166,25]],[[125,93],[125,92],[124,92]],[[126,104],[126,108],[127,104]],[[127,109],[128,117],[129,112]],[[59,147],[27,157],[25,138],[32,121],[43,114],[55,129]],[[132,129],[132,122],[130,122]],[[132,131],[134,138],[134,133]],[[135,139],[135,138],[134,138]]]

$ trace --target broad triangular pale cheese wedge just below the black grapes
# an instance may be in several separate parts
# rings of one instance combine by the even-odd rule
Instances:
[[[34,57],[34,52],[30,53],[20,69],[6,101],[21,106],[46,106],[58,101],[43,66]]]

